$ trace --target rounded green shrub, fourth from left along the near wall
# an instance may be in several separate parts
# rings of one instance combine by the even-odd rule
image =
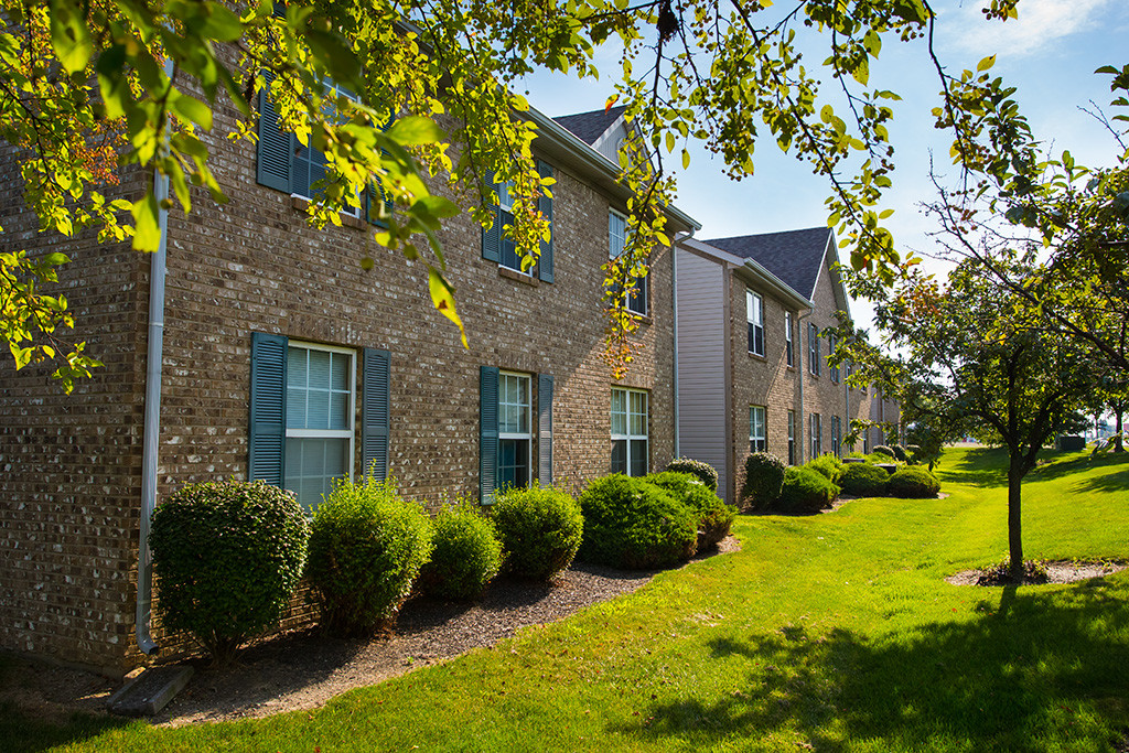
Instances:
[[[504,567],[519,578],[549,580],[572,563],[584,537],[580,506],[553,487],[508,489],[498,494],[492,515]]]

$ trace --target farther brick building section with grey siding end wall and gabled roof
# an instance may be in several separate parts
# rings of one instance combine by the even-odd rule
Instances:
[[[790,465],[844,455],[851,419],[898,422],[898,405],[831,368],[824,330],[849,316],[828,228],[677,244],[680,452],[717,469],[737,499],[745,456]],[[864,436],[869,450],[884,432]]]

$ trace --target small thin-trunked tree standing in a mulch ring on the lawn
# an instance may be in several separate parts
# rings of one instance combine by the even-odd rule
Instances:
[[[1016,279],[1034,274],[1013,264]],[[1023,573],[1023,479],[1039,450],[1076,420],[1097,380],[1092,352],[1044,336],[1043,314],[995,284],[978,260],[959,264],[942,287],[916,274],[877,308],[883,357],[858,338],[843,354],[855,377],[898,395],[903,420],[918,431],[953,440],[971,435],[1008,454],[1007,504],[1010,573]]]

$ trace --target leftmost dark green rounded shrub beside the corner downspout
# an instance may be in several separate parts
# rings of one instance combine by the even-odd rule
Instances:
[[[301,578],[309,525],[294,496],[263,481],[184,487],[152,514],[149,544],[166,628],[187,630],[217,664],[275,625]]]

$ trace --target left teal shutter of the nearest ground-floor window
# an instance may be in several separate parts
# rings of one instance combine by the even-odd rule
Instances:
[[[286,459],[287,339],[251,333],[251,427],[247,475],[282,485]]]

